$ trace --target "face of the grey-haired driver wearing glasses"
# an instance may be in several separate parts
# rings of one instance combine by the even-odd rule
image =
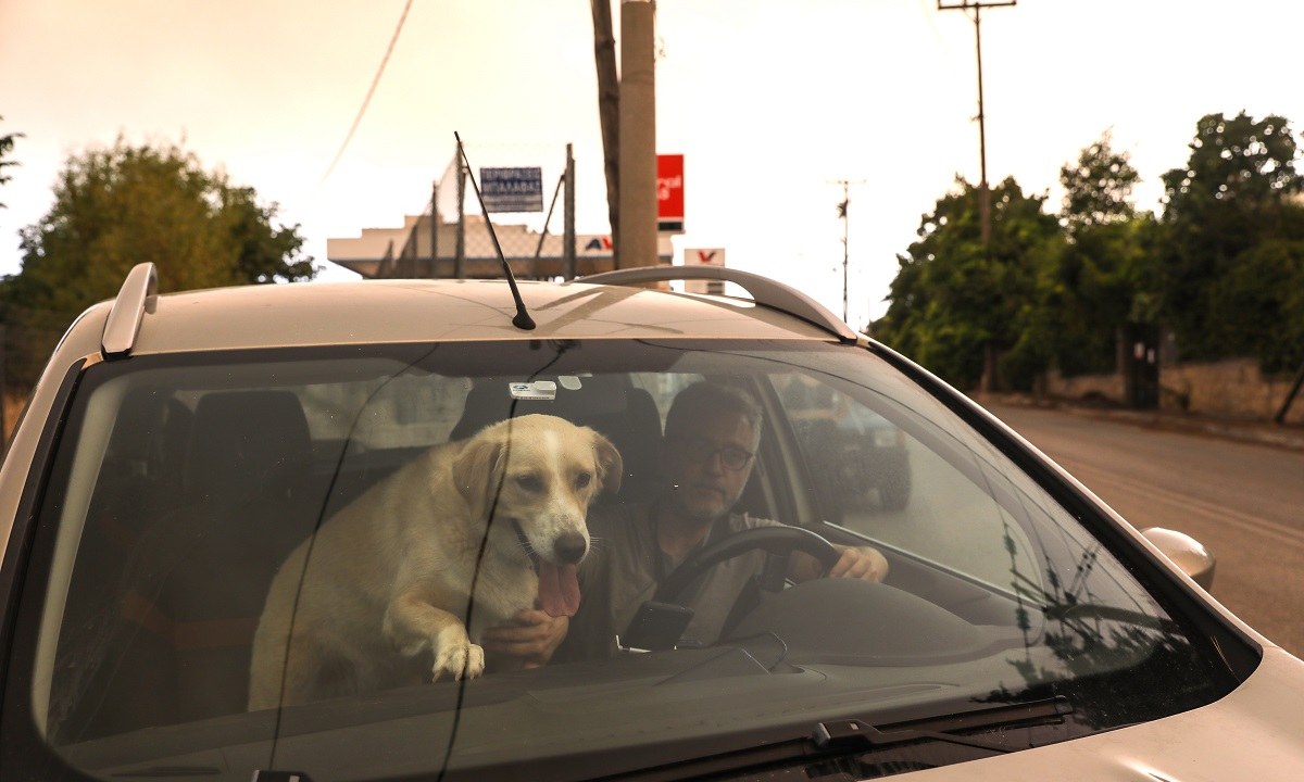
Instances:
[[[741,414],[702,416],[669,438],[662,451],[662,469],[670,478],[669,502],[681,515],[715,521],[729,512],[742,495],[756,452],[758,434]],[[730,467],[729,461],[746,463]]]

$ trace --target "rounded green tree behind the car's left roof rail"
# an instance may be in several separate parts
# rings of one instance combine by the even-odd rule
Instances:
[[[276,222],[276,205],[261,205],[254,190],[205,171],[177,146],[119,139],[70,156],[53,195],[50,211],[20,232],[22,270],[0,282],[4,319],[23,335],[8,373],[18,386],[34,382],[39,358],[72,318],[116,296],[137,263],[155,265],[160,292],[317,272],[299,227]]]

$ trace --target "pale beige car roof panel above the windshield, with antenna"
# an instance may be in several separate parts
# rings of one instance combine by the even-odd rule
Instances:
[[[726,276],[733,279],[734,275]],[[743,274],[738,279],[752,278],[755,275]],[[780,295],[801,296],[772,280],[765,284],[773,285],[773,292]],[[808,300],[805,301],[815,309],[802,311],[803,301],[795,300],[793,306],[794,300],[782,296],[777,305],[767,305],[750,298],[627,284],[518,283],[536,323],[533,330],[512,325],[516,306],[507,280],[291,283],[159,296],[145,296],[145,288],[140,288],[134,297],[132,287],[129,278],[116,306],[115,301],[108,301],[87,310],[73,331],[83,332],[80,334],[82,339],[103,336],[104,353],[110,355],[112,322],[129,321],[132,314],[123,310],[134,306],[138,330],[130,332],[125,348],[112,352],[149,355],[449,340],[741,338],[849,341],[848,335],[855,338],[844,323]],[[764,293],[758,296],[764,297]],[[794,314],[793,309],[799,311]],[[828,318],[822,319],[824,315]]]

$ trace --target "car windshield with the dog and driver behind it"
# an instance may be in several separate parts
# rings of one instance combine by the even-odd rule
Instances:
[[[711,439],[722,408],[700,430],[670,430],[672,404],[703,383],[760,411],[751,444]],[[567,637],[546,665],[489,653],[482,675],[432,680],[429,645],[403,648],[385,610],[398,571],[416,567],[406,551],[438,553],[425,588],[463,606],[472,640],[498,620],[497,597],[476,590],[507,567],[485,554],[490,530],[519,540],[524,554],[505,557],[532,563],[539,605],[574,602],[550,581],[567,567],[537,550],[540,514],[522,499],[550,474],[518,469],[535,413],[619,455],[566,478],[574,491],[600,482],[584,494],[578,607],[558,611],[572,614]],[[520,456],[475,461],[467,443],[502,421]],[[541,431],[529,437],[569,437]],[[909,725],[1063,699],[1061,718],[1000,732],[1017,749],[1230,691],[1209,633],[1111,546],[1116,530],[1081,521],[1048,471],[981,431],[872,349],[810,341],[102,362],[72,396],[39,507],[34,723],[64,762],[115,779],[591,778],[802,743],[828,721]],[[738,495],[698,549],[640,564],[626,549],[657,533],[659,503],[695,490],[669,474],[674,459],[735,476]],[[735,527],[780,532],[730,549]],[[790,528],[872,547],[887,577],[784,579],[803,557],[789,549],[820,551]],[[678,593],[648,586],[709,547],[719,562]],[[382,607],[369,618],[356,607],[368,600]],[[309,632],[331,652],[296,691],[287,648]],[[258,676],[270,676],[261,696]],[[914,753],[908,766],[955,760]]]

